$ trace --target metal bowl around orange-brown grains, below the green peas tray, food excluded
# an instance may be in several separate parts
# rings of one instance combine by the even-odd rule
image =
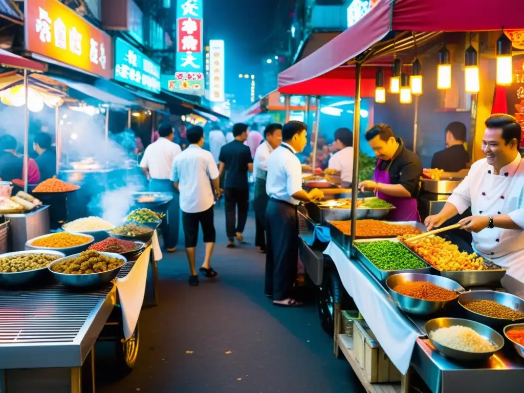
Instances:
[[[417,298],[412,298],[403,294],[396,292],[393,288],[399,285],[402,282],[406,281],[423,281],[431,282],[434,285],[439,287],[449,289],[450,291],[463,292],[465,289],[456,283],[453,280],[447,279],[445,277],[433,276],[430,274],[422,273],[401,273],[389,276],[386,279],[386,286],[388,287],[389,294],[393,301],[402,309],[403,311],[409,312],[410,314],[416,315],[429,315],[433,314],[444,307],[447,304],[455,302],[459,298],[459,293],[457,293],[455,299],[446,300],[446,301],[431,301],[431,300],[422,300]]]

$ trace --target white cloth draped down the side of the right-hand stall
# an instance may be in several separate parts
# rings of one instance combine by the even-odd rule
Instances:
[[[335,243],[330,242],[324,254],[335,263],[342,284],[355,301],[380,346],[402,374],[406,374],[413,347],[420,335],[378,284],[368,278],[356,261],[348,258]]]

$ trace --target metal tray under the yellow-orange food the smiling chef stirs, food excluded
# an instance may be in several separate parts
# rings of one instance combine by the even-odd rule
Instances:
[[[400,242],[404,247],[406,247],[409,252],[417,257],[423,259],[420,255],[414,252],[407,244]],[[459,246],[459,251],[467,251],[462,249]],[[497,267],[498,265],[494,264],[493,261],[484,258],[485,263],[493,264]],[[424,260],[425,262],[425,260]],[[499,267],[499,269],[489,269],[489,270],[439,270],[431,266],[433,274],[438,274],[442,277],[449,278],[455,282],[458,282],[463,287],[500,287],[500,280],[506,274],[506,269]]]

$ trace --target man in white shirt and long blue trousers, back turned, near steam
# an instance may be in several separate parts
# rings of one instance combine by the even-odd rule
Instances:
[[[180,206],[178,191],[171,182],[171,167],[173,160],[182,149],[173,143],[174,130],[170,124],[158,127],[159,138],[150,144],[140,161],[140,168],[149,180],[149,191],[166,192],[173,196],[169,202],[167,215],[160,224],[164,247],[168,253],[176,250],[180,223]]]

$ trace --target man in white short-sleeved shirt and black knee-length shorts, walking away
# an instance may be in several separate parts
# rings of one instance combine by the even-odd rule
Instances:
[[[219,168],[211,152],[202,149],[204,144],[202,127],[192,127],[187,133],[187,138],[190,145],[174,159],[171,181],[180,191],[185,253],[191,271],[189,285],[197,286],[199,279],[195,264],[199,224],[202,225],[205,243],[204,263],[199,271],[207,278],[217,275],[210,261],[216,238],[213,205],[220,196]]]

